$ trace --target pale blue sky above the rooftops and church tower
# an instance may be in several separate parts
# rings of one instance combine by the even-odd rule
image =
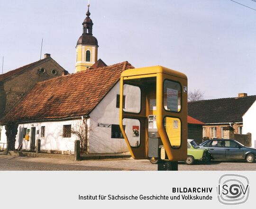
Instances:
[[[256,9],[253,0],[236,0]],[[88,0],[0,0],[0,63],[50,53],[74,73]],[[91,0],[98,58],[183,72],[204,99],[256,95],[256,10],[231,0]],[[2,65],[1,65],[2,66]]]

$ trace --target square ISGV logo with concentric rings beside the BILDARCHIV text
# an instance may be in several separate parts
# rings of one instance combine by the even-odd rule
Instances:
[[[224,205],[238,205],[248,200],[250,192],[249,181],[246,176],[238,174],[224,174],[219,178],[217,195]]]

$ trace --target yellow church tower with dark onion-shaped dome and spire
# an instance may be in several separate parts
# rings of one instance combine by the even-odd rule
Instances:
[[[82,23],[82,35],[76,44],[76,64],[75,72],[86,70],[90,68],[98,59],[98,41],[92,35],[92,20],[89,11],[90,4],[88,4],[88,11],[86,18]]]

